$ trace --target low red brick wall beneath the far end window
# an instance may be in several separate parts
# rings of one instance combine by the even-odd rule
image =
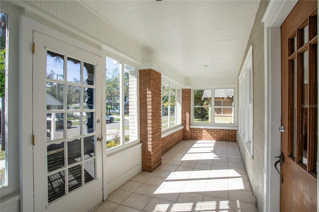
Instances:
[[[190,128],[190,139],[236,141],[237,130]]]

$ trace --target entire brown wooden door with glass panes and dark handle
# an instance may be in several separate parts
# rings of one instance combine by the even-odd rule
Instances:
[[[317,1],[299,1],[281,26],[281,212],[317,211],[317,34]]]

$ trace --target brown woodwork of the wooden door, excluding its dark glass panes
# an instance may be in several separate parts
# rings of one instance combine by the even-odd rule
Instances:
[[[281,149],[284,153],[284,163],[281,164],[281,173],[283,176],[283,183],[281,183],[281,194],[280,194],[280,202],[281,202],[281,211],[282,212],[312,212],[317,211],[317,173],[312,172],[312,167],[309,167],[309,163],[314,166],[314,154],[308,153],[307,158],[303,158],[303,148],[302,140],[306,139],[307,142],[307,151],[314,151],[312,147],[315,142],[317,142],[314,136],[309,135],[312,134],[314,130],[314,126],[317,128],[317,123],[315,122],[312,116],[314,116],[315,112],[311,109],[302,110],[302,98],[303,94],[306,94],[304,88],[302,88],[301,79],[303,79],[301,73],[303,63],[300,55],[308,50],[310,52],[311,43],[317,43],[317,35],[311,37],[311,41],[306,42],[305,44],[299,42],[301,39],[300,29],[305,26],[306,22],[310,21],[310,16],[317,14],[317,1],[299,1],[289,16],[286,18],[284,23],[281,26],[281,49],[282,49],[282,125],[285,127],[284,133],[281,136]],[[316,22],[317,24],[317,22]],[[317,28],[316,28],[317,29]],[[316,30],[317,34],[317,30]],[[292,44],[291,40],[296,36],[296,51],[291,51]],[[295,52],[295,53],[292,53]],[[317,50],[311,52],[311,57],[317,57]],[[314,54],[316,54],[314,56]],[[294,93],[294,79],[292,61],[296,59],[296,70],[297,70],[297,83],[296,89],[297,92]],[[309,59],[310,65],[308,65],[308,70],[311,76],[314,74],[317,75],[317,60]],[[316,67],[316,68],[314,68]],[[310,70],[311,69],[311,70]],[[309,78],[310,81],[312,78]],[[308,82],[307,88],[314,88],[313,84]],[[301,89],[302,88],[302,89]],[[310,92],[314,93],[315,89]],[[308,90],[307,90],[308,92]],[[316,93],[317,95],[317,93]],[[305,96],[305,95],[304,95]],[[311,97],[311,96],[307,96]],[[294,108],[293,104],[296,101],[296,108]],[[317,100],[316,100],[317,101]],[[311,102],[314,104],[314,101]],[[318,103],[317,103],[318,104]],[[303,113],[302,113],[303,111]],[[295,112],[295,118],[294,118]],[[302,121],[301,117],[304,115],[307,117],[307,120]],[[313,125],[311,125],[313,123]],[[302,133],[301,129],[304,124],[308,124],[308,135]],[[295,133],[295,134],[294,134]],[[294,135],[295,135],[295,143],[294,143]],[[303,136],[304,135],[304,136]],[[292,154],[293,149],[295,148],[296,154]],[[317,151],[315,153],[317,155]],[[308,159],[308,161],[307,161]],[[307,161],[308,165],[303,165],[300,160]]]

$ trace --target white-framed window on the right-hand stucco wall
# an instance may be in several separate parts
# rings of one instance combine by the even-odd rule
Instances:
[[[238,78],[238,134],[253,158],[253,48],[250,46]]]

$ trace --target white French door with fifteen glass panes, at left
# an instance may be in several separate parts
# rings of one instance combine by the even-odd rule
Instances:
[[[90,211],[103,201],[103,60],[36,31],[33,42],[34,211]]]

